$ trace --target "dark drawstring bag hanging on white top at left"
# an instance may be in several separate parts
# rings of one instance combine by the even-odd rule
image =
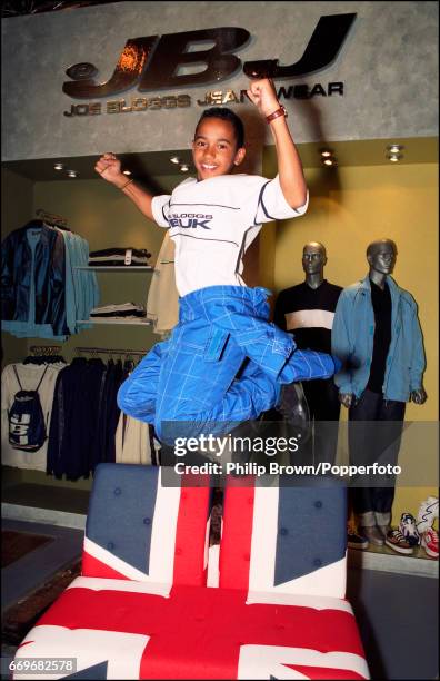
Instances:
[[[48,367],[44,368],[34,391],[23,391],[16,366],[13,371],[20,389],[16,393],[13,404],[8,412],[9,442],[14,450],[37,452],[47,440],[44,414],[38,389]]]

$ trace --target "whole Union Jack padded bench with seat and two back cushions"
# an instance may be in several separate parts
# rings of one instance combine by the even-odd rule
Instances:
[[[369,678],[344,599],[341,486],[229,480],[208,586],[209,486],[161,477],[153,466],[97,467],[82,575],[16,655],[74,658],[76,669],[14,679]]]

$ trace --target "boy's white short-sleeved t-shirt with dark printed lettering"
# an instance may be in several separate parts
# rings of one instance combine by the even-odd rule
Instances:
[[[279,177],[220,175],[190,177],[171,195],[152,199],[152,214],[176,244],[176,284],[180,296],[207,286],[246,286],[242,257],[262,223],[303,215],[309,203],[291,208]]]

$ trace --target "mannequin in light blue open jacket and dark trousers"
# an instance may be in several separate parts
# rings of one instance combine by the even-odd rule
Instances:
[[[341,404],[349,409],[350,462],[354,465],[394,464],[406,403],[411,399],[421,405],[427,399],[417,304],[391,277],[397,255],[391,239],[372,241],[367,248],[367,277],[343,289],[334,315],[332,348],[344,363],[334,382]],[[371,421],[378,425],[371,427]],[[351,491],[361,533],[376,545],[388,544],[392,532],[394,480],[387,484]]]

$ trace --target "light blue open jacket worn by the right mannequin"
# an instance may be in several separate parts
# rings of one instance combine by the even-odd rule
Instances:
[[[408,402],[412,391],[421,387],[426,368],[423,338],[417,315],[417,303],[392,277],[387,277],[391,294],[391,343],[383,381],[384,399]],[[331,333],[332,354],[342,361],[336,374],[339,392],[358,398],[366,389],[374,339],[374,312],[370,277],[344,288],[339,297]]]

